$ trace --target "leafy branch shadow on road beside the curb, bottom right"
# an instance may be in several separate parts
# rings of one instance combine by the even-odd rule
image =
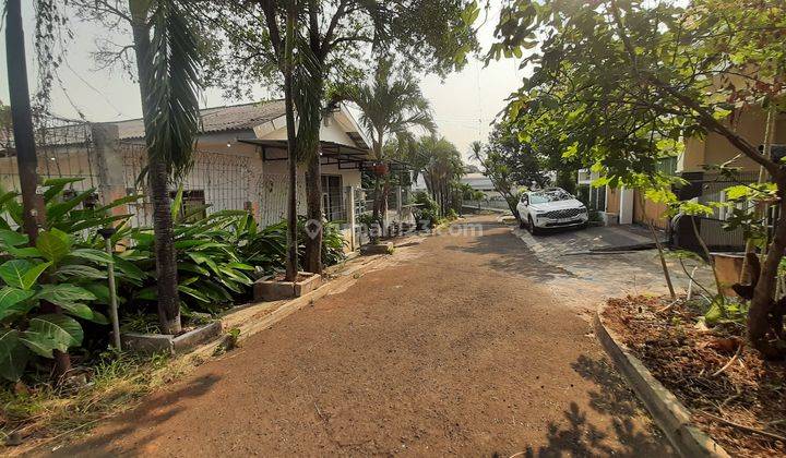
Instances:
[[[626,386],[624,379],[615,372],[608,361],[581,355],[571,367],[583,378],[594,382],[599,387],[597,391],[590,391],[590,408],[597,413],[611,417],[614,435],[593,425],[587,420],[587,411],[582,411],[576,402],[571,402],[562,412],[567,425],[564,422],[548,424],[547,445],[527,446],[516,456],[674,456],[670,449],[664,449],[665,441],[658,442],[654,437],[659,434],[654,425],[648,425],[644,430],[631,421],[642,408],[635,395]]]

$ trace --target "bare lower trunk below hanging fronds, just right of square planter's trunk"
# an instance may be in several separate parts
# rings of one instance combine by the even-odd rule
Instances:
[[[306,270],[314,274],[322,274],[322,237],[323,218],[322,218],[322,173],[320,170],[319,152],[314,152],[308,161],[308,170],[306,171],[306,203],[308,206],[307,218],[310,229],[307,231],[306,239]],[[315,226],[313,226],[315,225]]]

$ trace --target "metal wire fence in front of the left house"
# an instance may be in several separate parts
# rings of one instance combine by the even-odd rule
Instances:
[[[146,147],[142,141],[122,141],[115,136],[107,141],[106,125],[88,122],[48,119],[46,125],[36,129],[38,173],[47,178],[82,178],[69,185],[67,193],[95,189],[95,195],[78,208],[91,202],[140,195],[128,204],[133,227],[153,225],[153,205],[146,179],[141,179],[147,164]],[[117,132],[117,131],[115,131]],[[111,156],[114,159],[107,161]],[[338,176],[323,177],[323,208],[330,220],[346,222],[348,194]],[[337,178],[337,179],[335,179]],[[109,182],[115,186],[108,192]],[[305,173],[298,173],[298,214],[306,213]],[[0,185],[5,190],[20,191],[19,169],[13,144],[0,145]],[[182,186],[183,206],[209,205],[204,214],[225,209],[249,209],[259,224],[269,226],[286,217],[288,177],[286,173],[266,173],[262,159],[254,152],[210,150],[198,147],[189,172],[172,183],[174,195]],[[356,215],[371,209],[371,193],[355,189]]]

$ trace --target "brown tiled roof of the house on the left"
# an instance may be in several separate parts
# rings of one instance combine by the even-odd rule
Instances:
[[[285,114],[284,100],[265,100],[252,104],[212,107],[200,110],[203,133],[253,129]],[[109,122],[120,131],[120,138],[142,138],[142,119]]]

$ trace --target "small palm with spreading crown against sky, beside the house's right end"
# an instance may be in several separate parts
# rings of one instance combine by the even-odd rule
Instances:
[[[409,72],[393,74],[393,61],[382,59],[369,84],[340,88],[336,99],[345,99],[360,108],[360,122],[371,136],[373,155],[384,160],[386,135],[396,135],[400,145],[407,141],[409,129],[418,126],[434,132],[428,100]],[[373,219],[379,220],[380,212],[386,210],[384,203],[390,192],[390,180],[381,185],[380,177],[374,181]]]

